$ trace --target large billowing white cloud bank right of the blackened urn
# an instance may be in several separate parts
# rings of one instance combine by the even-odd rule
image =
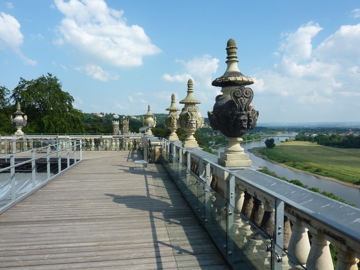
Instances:
[[[355,110],[360,102],[360,24],[339,27],[313,48],[312,39],[321,29],[318,24],[308,23],[284,34],[278,62],[272,69],[253,74],[255,84],[251,88],[260,122],[272,119],[266,119],[268,113],[261,114],[259,100],[264,108],[272,100],[274,108],[288,112],[285,117],[294,112],[293,117],[298,119],[292,121],[338,121],[345,115],[339,104],[347,104],[347,114]]]

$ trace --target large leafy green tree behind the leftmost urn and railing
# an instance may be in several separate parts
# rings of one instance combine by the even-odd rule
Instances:
[[[47,74],[27,81],[20,78],[11,98],[28,116],[27,133],[82,133],[82,112],[74,109],[74,98],[62,91],[56,76]]]

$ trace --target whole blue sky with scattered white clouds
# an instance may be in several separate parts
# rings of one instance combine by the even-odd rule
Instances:
[[[0,0],[0,85],[51,73],[85,113],[140,115],[191,78],[207,117],[230,38],[258,123],[360,121],[359,1]]]

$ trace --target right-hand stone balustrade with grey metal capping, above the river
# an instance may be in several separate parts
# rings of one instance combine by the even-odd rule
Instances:
[[[215,155],[201,149],[184,149],[164,140],[166,152],[234,207],[236,245],[246,249],[247,256],[262,258],[259,268],[271,263],[265,247],[276,243],[281,249],[273,249],[273,260],[281,261],[282,269],[334,269],[331,243],[338,252],[336,269],[358,269],[360,209],[253,169],[228,170],[217,164]],[[210,198],[212,204],[216,200]],[[279,235],[281,240],[276,242]]]

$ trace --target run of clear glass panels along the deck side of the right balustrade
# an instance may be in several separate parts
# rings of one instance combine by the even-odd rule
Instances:
[[[271,269],[272,239],[253,225],[203,178],[164,153],[163,163],[191,209],[234,269]]]

